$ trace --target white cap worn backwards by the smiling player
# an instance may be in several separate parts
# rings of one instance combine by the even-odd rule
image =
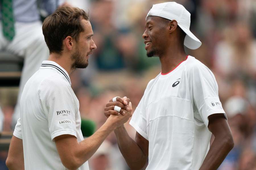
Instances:
[[[153,5],[149,10],[148,16],[160,16],[168,20],[176,20],[179,27],[187,34],[184,45],[190,49],[197,49],[202,42],[189,30],[190,13],[176,2],[165,2]]]

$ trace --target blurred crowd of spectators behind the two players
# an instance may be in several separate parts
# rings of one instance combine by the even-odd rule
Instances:
[[[166,1],[62,2],[85,9],[90,14],[93,40],[97,49],[89,58],[89,66],[86,69],[77,69],[70,78],[80,102],[81,118],[94,121],[95,129],[106,121],[104,107],[110,99],[127,96],[135,110],[149,80],[161,72],[159,59],[147,58],[142,38],[146,14],[153,4],[160,2]],[[256,1],[175,2],[182,4],[191,13],[190,29],[201,40],[202,46],[197,50],[186,48],[186,52],[214,73],[220,101],[228,116],[234,138],[235,146],[219,169],[256,170]],[[56,4],[61,5],[57,0]],[[41,18],[50,14],[40,5],[37,6]],[[7,63],[6,56],[1,59],[2,54],[7,51],[5,48],[0,49],[0,65]],[[22,55],[14,55],[18,59],[13,62],[22,63]],[[13,76],[6,74],[6,69],[0,71],[0,106],[3,112],[0,114],[0,125],[3,132],[12,132],[12,116],[19,89],[15,78],[20,74]],[[135,130],[128,122],[125,126],[134,138]],[[7,169],[7,152],[0,152],[0,169]],[[92,170],[129,169],[113,133],[89,160],[89,165]]]

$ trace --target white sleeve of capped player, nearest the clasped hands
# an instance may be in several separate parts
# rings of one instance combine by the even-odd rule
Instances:
[[[130,121],[130,125],[133,126],[133,128],[146,140],[148,140],[148,134],[147,134],[147,119],[146,119],[146,105],[145,105],[145,98],[147,96],[148,89],[151,87],[153,80],[150,80],[150,82],[147,85],[147,88],[144,92],[143,97],[141,98],[141,101],[139,102],[139,105],[135,109],[133,116]]]

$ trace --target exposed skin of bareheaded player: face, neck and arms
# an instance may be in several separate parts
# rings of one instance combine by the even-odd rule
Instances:
[[[83,58],[83,62],[88,63],[88,55],[92,54],[92,50],[96,49],[96,45],[92,40],[93,31],[90,22],[82,19],[81,23],[85,31],[79,34],[78,42],[76,42],[71,36],[66,37],[63,40],[63,51],[61,55],[51,53],[48,59],[58,63],[69,74],[74,70],[74,68],[72,68],[72,54],[79,50],[81,57]],[[111,114],[108,116],[108,119],[102,127],[85,140],[78,142],[77,138],[72,135],[61,135],[54,138],[61,162],[67,169],[73,170],[79,168],[96,152],[102,142],[114,129],[122,126],[132,116],[132,105],[129,99],[120,98],[114,103],[115,105],[126,109],[122,109],[120,111],[123,115],[117,116],[120,113],[116,113],[116,115]],[[125,105],[123,103],[125,103]],[[16,162],[14,162],[14,160]],[[21,139],[13,136],[6,163],[10,169],[20,169],[20,167],[24,167]],[[14,165],[15,163],[17,163],[17,165]]]

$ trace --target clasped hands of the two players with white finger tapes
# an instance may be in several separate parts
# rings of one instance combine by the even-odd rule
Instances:
[[[108,118],[106,122],[113,128],[119,128],[132,116],[132,104],[127,97],[114,97],[106,104],[104,114]]]

